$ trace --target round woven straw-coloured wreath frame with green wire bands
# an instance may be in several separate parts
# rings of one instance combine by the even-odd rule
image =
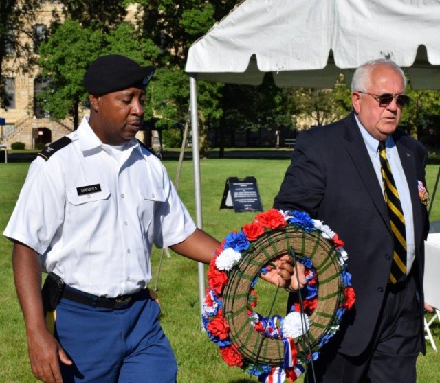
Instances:
[[[309,257],[318,274],[318,304],[309,316],[311,323],[307,346],[298,345],[298,358],[320,349],[320,339],[330,331],[343,296],[342,266],[335,248],[320,232],[305,233],[294,227],[270,231],[252,243],[239,264],[231,270],[223,292],[223,315],[230,326],[230,339],[238,347],[243,360],[274,366],[284,361],[281,339],[272,339],[256,332],[250,323],[247,308],[251,283],[268,262],[294,251],[296,257]],[[309,349],[310,347],[310,349]],[[303,358],[302,358],[303,356]]]

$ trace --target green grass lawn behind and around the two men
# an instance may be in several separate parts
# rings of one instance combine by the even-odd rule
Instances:
[[[175,179],[177,161],[164,161],[170,177]],[[219,209],[225,181],[228,177],[256,177],[263,209],[270,209],[289,160],[209,159],[201,161],[201,187],[203,202],[203,229],[221,240],[234,229],[250,223],[254,213],[234,213],[232,209]],[[29,163],[0,163],[0,231],[8,222]],[[438,165],[428,165],[428,189],[432,190],[439,170]],[[179,181],[179,194],[194,217],[194,186],[192,162],[184,161]],[[437,196],[436,200],[440,198]],[[432,220],[440,220],[440,205],[434,203]],[[34,382],[28,363],[27,343],[23,318],[15,295],[10,257],[12,245],[0,237],[0,382]],[[151,288],[158,286],[162,302],[162,326],[173,345],[179,363],[178,381],[183,383],[245,383],[249,375],[239,368],[228,367],[220,358],[217,346],[201,332],[199,316],[199,294],[197,264],[171,252],[162,261],[160,275],[157,274],[161,251],[152,254],[153,280]],[[259,283],[261,305],[265,305],[265,292],[272,286]],[[283,292],[284,293],[284,292]],[[269,294],[267,294],[269,295]],[[281,301],[285,295],[281,294]],[[263,310],[259,310],[264,312]],[[283,313],[281,313],[283,314]],[[440,323],[433,325],[432,332],[440,347]],[[438,354],[427,345],[427,356],[420,356],[417,367],[418,382],[440,381]],[[256,379],[252,379],[256,382]],[[299,380],[300,382],[302,380]]]

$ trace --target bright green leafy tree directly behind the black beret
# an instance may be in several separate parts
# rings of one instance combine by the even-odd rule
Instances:
[[[51,86],[39,97],[51,118],[72,117],[76,129],[80,106],[87,101],[83,78],[91,62],[103,54],[122,54],[140,63],[151,62],[158,51],[151,40],[140,39],[129,23],[121,23],[104,34],[67,20],[55,25],[50,39],[41,45],[39,65],[42,75],[50,78]]]

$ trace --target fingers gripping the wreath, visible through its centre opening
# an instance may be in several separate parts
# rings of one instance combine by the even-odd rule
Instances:
[[[261,279],[292,291],[300,290],[305,286],[306,279],[303,264],[296,262],[296,266],[293,265],[294,259],[290,255],[283,255],[283,257],[274,259],[273,262],[275,267],[267,274],[261,275]],[[296,275],[296,270],[298,270],[298,275]]]

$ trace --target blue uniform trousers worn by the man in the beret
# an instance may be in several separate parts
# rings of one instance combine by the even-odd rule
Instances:
[[[159,323],[160,306],[145,297],[111,310],[61,299],[54,335],[74,362],[63,382],[170,383],[177,362]]]

